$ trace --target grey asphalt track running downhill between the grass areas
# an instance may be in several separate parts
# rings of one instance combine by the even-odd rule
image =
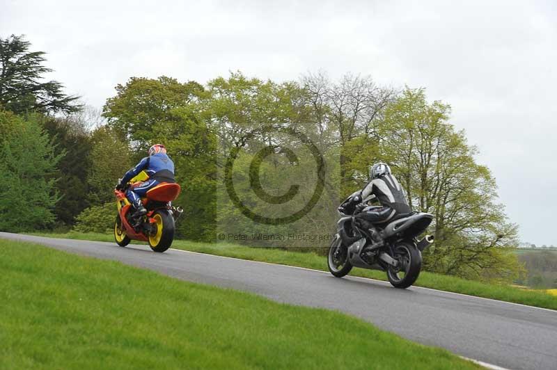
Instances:
[[[147,246],[8,234],[59,250],[150,268],[182,280],[336,309],[423,344],[507,369],[557,369],[557,311],[377,280]],[[324,262],[325,263],[325,262]],[[354,344],[355,346],[357,344]],[[370,361],[374,355],[370,354]]]

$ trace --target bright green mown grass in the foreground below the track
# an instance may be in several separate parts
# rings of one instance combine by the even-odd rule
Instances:
[[[0,240],[0,369],[477,369],[339,312]]]

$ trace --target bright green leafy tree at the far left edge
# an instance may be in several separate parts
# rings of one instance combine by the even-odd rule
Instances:
[[[35,115],[24,120],[0,111],[0,230],[21,232],[52,225],[56,164],[49,136]]]

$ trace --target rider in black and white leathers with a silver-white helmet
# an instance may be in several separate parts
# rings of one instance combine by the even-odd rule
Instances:
[[[368,206],[367,201],[363,202],[371,195],[375,195],[381,207]],[[352,202],[359,202],[354,208],[355,218],[366,225],[374,241],[374,244],[367,249],[375,249],[382,245],[382,238],[373,225],[386,223],[397,214],[411,212],[405,191],[402,190],[402,186],[391,174],[391,168],[386,163],[381,162],[370,167],[370,182],[364,186],[359,197],[352,198]],[[350,204],[347,204],[347,206],[350,207]]]

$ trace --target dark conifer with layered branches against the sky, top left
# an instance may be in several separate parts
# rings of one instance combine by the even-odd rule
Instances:
[[[0,38],[0,106],[18,114],[79,111],[78,96],[65,95],[58,81],[41,81],[52,70],[43,65],[45,53],[30,47],[23,35]]]

